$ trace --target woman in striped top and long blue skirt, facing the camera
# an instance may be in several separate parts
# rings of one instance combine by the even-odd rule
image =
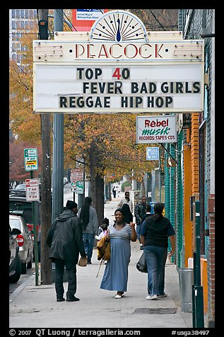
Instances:
[[[131,257],[130,241],[136,241],[134,222],[124,222],[124,211],[118,208],[114,212],[114,224],[109,226],[110,261],[107,261],[101,289],[116,290],[116,299],[124,297],[128,282],[128,268]]]

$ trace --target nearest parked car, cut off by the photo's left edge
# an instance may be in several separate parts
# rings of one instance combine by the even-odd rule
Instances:
[[[18,228],[11,229],[9,225],[9,256],[8,256],[8,268],[9,268],[9,282],[16,283],[20,279],[21,275],[21,260],[19,256],[19,246],[16,241],[16,236],[21,232]]]

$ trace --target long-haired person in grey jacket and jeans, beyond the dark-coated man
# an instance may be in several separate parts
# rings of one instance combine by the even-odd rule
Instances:
[[[84,204],[80,210],[78,210],[78,217],[81,219],[81,226],[83,229],[83,244],[87,255],[87,263],[91,264],[91,258],[93,256],[93,245],[95,235],[98,234],[98,216],[95,208],[91,206],[92,198],[86,197]]]

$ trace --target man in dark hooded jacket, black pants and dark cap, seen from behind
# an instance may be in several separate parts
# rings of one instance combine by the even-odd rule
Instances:
[[[50,247],[49,258],[55,263],[55,290],[57,302],[64,301],[64,265],[68,273],[68,290],[66,300],[79,301],[76,294],[76,263],[78,255],[86,258],[83,246],[83,231],[80,219],[77,217],[77,204],[71,200],[66,203],[66,209],[52,223],[47,235],[47,246]]]

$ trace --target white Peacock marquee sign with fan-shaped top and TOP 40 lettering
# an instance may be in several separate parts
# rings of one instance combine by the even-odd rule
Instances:
[[[169,33],[150,40],[134,14],[109,11],[89,34],[34,40],[34,112],[201,112],[204,41]]]

